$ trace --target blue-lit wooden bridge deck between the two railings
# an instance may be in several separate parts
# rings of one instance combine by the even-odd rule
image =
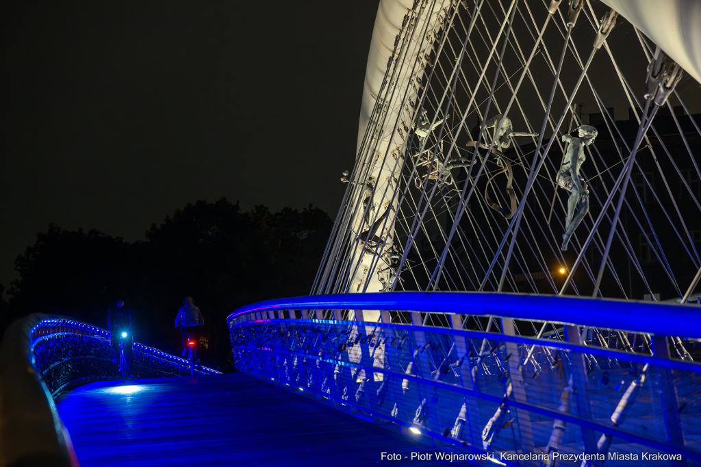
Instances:
[[[93,383],[57,408],[83,467],[435,464],[410,455],[435,449],[241,373]]]

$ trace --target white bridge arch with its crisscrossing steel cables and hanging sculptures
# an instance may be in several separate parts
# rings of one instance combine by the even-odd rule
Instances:
[[[693,294],[701,8],[605,3],[381,1],[313,293]]]

